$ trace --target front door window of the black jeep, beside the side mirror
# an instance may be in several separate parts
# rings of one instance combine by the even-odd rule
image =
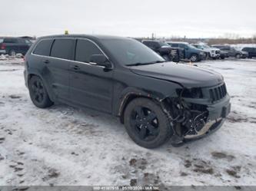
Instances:
[[[98,47],[88,40],[78,40],[75,51],[75,61],[90,62],[92,54],[102,54]]]

